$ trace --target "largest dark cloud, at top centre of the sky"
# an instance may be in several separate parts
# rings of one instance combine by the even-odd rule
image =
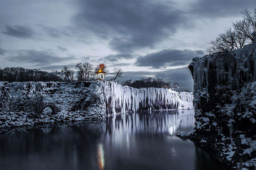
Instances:
[[[192,26],[184,12],[171,5],[148,1],[80,1],[80,12],[74,22],[78,29],[111,40],[111,48],[127,53],[153,48],[178,27]]]

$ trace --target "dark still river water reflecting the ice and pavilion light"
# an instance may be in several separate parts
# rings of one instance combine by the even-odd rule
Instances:
[[[0,170],[221,170],[176,136],[194,122],[192,110],[152,111],[4,134]]]

